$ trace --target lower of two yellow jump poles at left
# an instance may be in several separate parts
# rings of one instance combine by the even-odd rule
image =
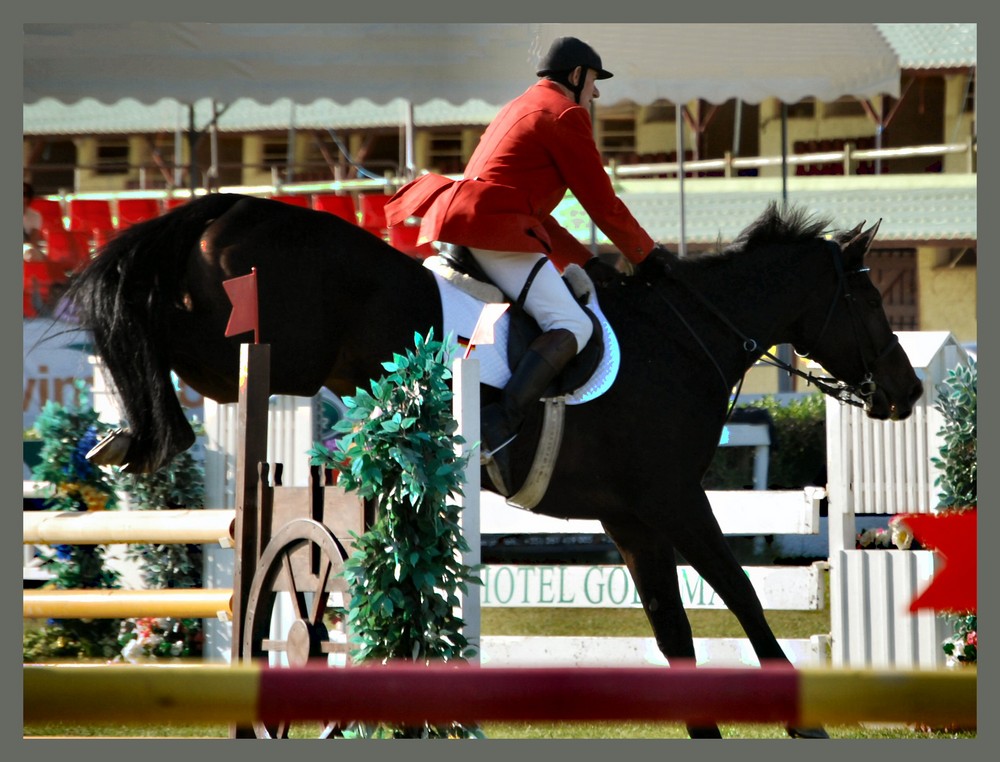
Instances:
[[[25,590],[25,619],[230,619],[231,589]]]

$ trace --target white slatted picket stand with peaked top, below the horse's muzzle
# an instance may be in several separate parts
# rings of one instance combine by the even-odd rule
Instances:
[[[873,421],[857,408],[827,402],[826,437],[830,532],[830,625],[834,666],[944,665],[950,634],[931,611],[911,614],[910,602],[934,576],[931,551],[856,550],[856,517],[931,513],[938,502],[931,462],[939,456],[937,385],[967,354],[945,331],[902,331],[899,341],[924,394],[902,422]]]

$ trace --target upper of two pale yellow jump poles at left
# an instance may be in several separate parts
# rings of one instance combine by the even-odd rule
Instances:
[[[22,515],[25,544],[219,543],[231,547],[236,511],[25,511]]]

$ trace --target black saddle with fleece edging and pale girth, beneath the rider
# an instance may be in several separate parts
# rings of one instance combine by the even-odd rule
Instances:
[[[518,299],[510,301],[503,296],[466,247],[452,244],[440,244],[440,247],[439,265],[490,289],[490,296],[484,298],[480,292],[476,294],[477,298],[483,298],[484,301],[502,300],[510,304],[507,363],[511,368],[516,367],[531,342],[542,333],[534,318],[524,311],[524,300],[530,288],[531,278]],[[528,415],[517,439],[510,445],[532,448],[531,465],[527,473],[522,475],[515,468],[515,480],[520,487],[514,494],[504,496],[509,505],[526,510],[531,510],[541,502],[548,489],[562,444],[567,397],[591,379],[604,358],[604,330],[601,321],[587,306],[593,283],[582,268],[570,268],[563,277],[567,287],[593,323],[594,331],[583,351],[570,361],[542,395],[541,411]],[[470,292],[471,290],[469,289]],[[492,459],[483,460],[482,465],[486,467],[487,473],[491,473]],[[496,482],[496,479],[493,481]]]

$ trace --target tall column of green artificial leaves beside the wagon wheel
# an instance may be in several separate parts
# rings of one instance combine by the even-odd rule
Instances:
[[[340,472],[339,484],[374,502],[374,524],[354,534],[344,565],[346,626],[355,662],[460,662],[476,653],[465,638],[460,596],[478,595],[476,570],[462,562],[468,544],[459,524],[467,456],[456,434],[449,387],[450,351],[433,331],[383,363],[388,375],[344,398],[334,449],[316,444],[312,462]],[[468,738],[449,726],[359,727],[382,738]]]

